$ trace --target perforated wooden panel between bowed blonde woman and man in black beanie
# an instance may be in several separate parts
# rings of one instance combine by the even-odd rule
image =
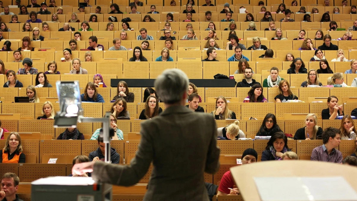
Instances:
[[[221,155],[241,155],[248,148],[253,148],[252,140],[218,140],[217,146],[221,149]]]

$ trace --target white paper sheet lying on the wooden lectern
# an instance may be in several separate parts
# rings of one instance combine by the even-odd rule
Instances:
[[[357,193],[343,177],[253,177],[263,201],[352,201]]]

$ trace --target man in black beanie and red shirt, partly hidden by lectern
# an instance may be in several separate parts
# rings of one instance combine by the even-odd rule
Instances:
[[[248,148],[244,150],[241,159],[242,159],[242,165],[257,162],[258,154],[254,149]],[[238,194],[240,194],[240,192],[235,184],[235,181],[233,180],[231,171],[228,170],[222,176],[220,185],[218,186],[217,195],[238,195]]]

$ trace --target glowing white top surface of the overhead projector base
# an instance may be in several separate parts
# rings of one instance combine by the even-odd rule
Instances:
[[[47,177],[32,181],[33,185],[67,185],[67,186],[87,186],[95,182],[92,177]]]

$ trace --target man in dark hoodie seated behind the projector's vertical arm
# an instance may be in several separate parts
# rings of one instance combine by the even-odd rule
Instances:
[[[105,156],[105,144],[102,137],[98,137],[98,149],[89,153],[90,161],[104,161]],[[120,155],[113,147],[110,147],[110,162],[112,164],[119,164]]]

